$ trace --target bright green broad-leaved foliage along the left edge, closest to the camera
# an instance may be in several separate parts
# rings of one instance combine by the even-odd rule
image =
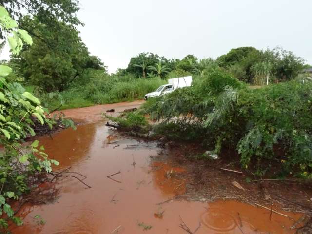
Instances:
[[[24,45],[32,45],[31,36],[18,28],[7,10],[0,6],[0,28],[5,32],[13,54],[18,55]],[[3,35],[3,34],[2,34]],[[59,162],[48,158],[44,146],[35,140],[22,145],[27,136],[35,136],[34,121],[48,124],[52,129],[53,119],[46,118],[38,98],[18,82],[11,80],[12,68],[0,65],[0,233],[6,233],[9,223],[22,225],[11,207],[12,200],[19,200],[38,183],[39,176],[52,171]]]

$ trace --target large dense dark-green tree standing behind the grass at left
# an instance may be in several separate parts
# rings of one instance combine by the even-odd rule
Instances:
[[[79,32],[70,24],[56,21],[59,31],[50,29],[37,18],[24,17],[24,28],[36,28],[32,47],[25,48],[17,57],[25,80],[44,91],[62,91],[88,68],[103,70],[98,57],[90,56]],[[45,35],[42,39],[41,35]]]

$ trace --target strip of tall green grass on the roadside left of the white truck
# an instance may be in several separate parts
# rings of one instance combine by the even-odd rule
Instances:
[[[78,81],[66,91],[37,95],[46,108],[53,110],[62,105],[61,110],[143,99],[145,94],[166,83],[158,77],[144,79],[108,75],[90,78],[87,84]]]

